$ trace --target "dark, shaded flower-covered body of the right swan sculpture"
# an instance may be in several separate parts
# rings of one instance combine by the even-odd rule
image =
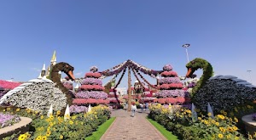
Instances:
[[[238,104],[256,99],[256,88],[235,76],[214,76],[195,94],[195,104],[207,110],[207,103],[214,111],[233,109]]]

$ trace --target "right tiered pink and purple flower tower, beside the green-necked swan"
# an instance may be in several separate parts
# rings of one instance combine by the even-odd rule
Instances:
[[[154,102],[160,104],[184,104],[189,101],[189,93],[185,92],[183,83],[177,73],[172,71],[172,65],[166,64],[160,74],[163,78],[159,80],[160,92],[155,93]]]

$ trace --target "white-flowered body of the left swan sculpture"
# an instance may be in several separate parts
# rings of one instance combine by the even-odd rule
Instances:
[[[11,91],[10,91],[11,92]],[[55,83],[48,81],[32,82],[26,87],[20,88],[6,97],[4,104],[10,104],[19,108],[28,108],[35,111],[47,111],[50,104],[53,109],[61,110],[67,105],[67,98]]]

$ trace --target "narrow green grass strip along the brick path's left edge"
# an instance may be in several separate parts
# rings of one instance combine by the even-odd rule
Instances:
[[[85,137],[86,140],[99,140],[101,139],[102,135],[107,132],[108,127],[113,123],[113,120],[115,120],[115,117],[110,118],[106,122],[104,122],[101,126],[98,127],[96,132],[93,132],[92,135],[89,137]]]

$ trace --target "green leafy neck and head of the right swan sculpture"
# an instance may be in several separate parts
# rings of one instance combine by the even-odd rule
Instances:
[[[211,76],[213,76],[212,64],[207,62],[207,60],[205,59],[196,58],[190,61],[188,64],[186,64],[186,67],[188,69],[191,68],[193,72],[198,69],[203,70],[203,74],[200,80],[196,83],[196,87],[194,87],[192,90],[192,96],[195,96],[196,92],[198,92],[201,89],[201,87],[203,87],[206,84],[207,80]]]

